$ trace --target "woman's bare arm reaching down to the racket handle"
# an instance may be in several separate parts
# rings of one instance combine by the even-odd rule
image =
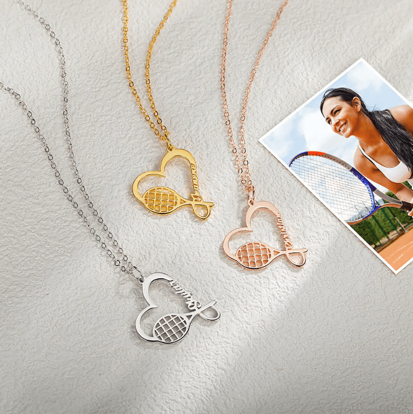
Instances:
[[[368,179],[389,189],[399,200],[413,204],[413,190],[401,182],[390,181],[382,171],[360,153],[360,150],[357,150],[354,155],[354,166]],[[408,214],[413,216],[413,210]]]

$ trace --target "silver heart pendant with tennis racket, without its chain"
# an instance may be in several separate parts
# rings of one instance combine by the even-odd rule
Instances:
[[[149,287],[155,280],[164,280],[175,290],[177,295],[182,295],[187,301],[185,302],[190,312],[185,314],[168,314],[158,319],[152,329],[152,336],[147,335],[140,325],[140,321],[146,312],[155,309],[155,305],[149,296]],[[142,283],[142,294],[149,306],[143,309],[136,318],[136,331],[142,339],[149,342],[174,343],[181,340],[189,331],[190,325],[196,316],[206,319],[207,321],[216,321],[221,316],[215,308],[216,301],[211,301],[202,306],[201,302],[192,297],[192,293],[185,290],[176,280],[165,273],[152,273]],[[203,314],[207,309],[213,309],[216,313],[214,317]]]

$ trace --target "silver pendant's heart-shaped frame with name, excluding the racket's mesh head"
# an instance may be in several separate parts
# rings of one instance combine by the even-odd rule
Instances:
[[[142,330],[142,327],[141,327],[141,324],[140,324],[142,317],[147,312],[149,312],[150,310],[155,309],[155,308],[158,307],[158,305],[155,305],[155,303],[152,301],[152,299],[149,295],[150,285],[153,282],[155,282],[156,280],[164,280],[166,282],[169,282],[170,287],[175,290],[176,294],[182,295],[184,298],[186,298],[188,300],[186,303],[188,305],[189,310],[191,311],[191,312],[188,312],[186,314],[182,314],[183,316],[187,316],[189,318],[189,320],[187,320],[187,325],[188,325],[187,330],[184,332],[184,334],[181,337],[178,337],[177,339],[174,339],[174,340],[171,340],[171,341],[165,341],[165,340],[159,339],[156,336],[147,335]],[[167,344],[178,342],[187,335],[187,333],[189,332],[189,329],[191,327],[191,323],[192,323],[193,319],[196,316],[199,315],[207,321],[216,321],[221,316],[221,313],[215,308],[215,304],[216,304],[215,300],[209,302],[208,304],[206,304],[204,306],[201,306],[201,303],[196,301],[192,297],[191,292],[186,291],[174,278],[167,275],[166,273],[157,272],[157,273],[152,273],[149,276],[145,277],[145,279],[142,283],[142,295],[143,295],[145,301],[147,302],[148,306],[146,308],[144,308],[139,313],[139,315],[137,316],[136,321],[135,321],[135,328],[136,328],[136,331],[138,332],[138,335],[142,339],[145,339],[148,342],[160,342],[160,343],[167,343]],[[216,315],[214,317],[204,315],[202,312],[205,311],[206,309],[212,309],[215,312]],[[180,315],[168,314],[168,315],[165,315],[165,316],[168,317],[168,316],[180,316]]]

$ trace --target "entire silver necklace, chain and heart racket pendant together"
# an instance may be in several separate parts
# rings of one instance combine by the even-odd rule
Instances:
[[[142,339],[145,339],[150,342],[161,342],[161,343],[174,343],[181,340],[189,331],[190,325],[196,316],[200,316],[203,319],[208,321],[216,321],[220,317],[220,312],[215,308],[216,301],[210,301],[206,305],[202,306],[201,302],[194,299],[193,293],[183,288],[174,278],[165,274],[165,273],[152,273],[147,277],[142,275],[142,272],[129,260],[128,256],[126,255],[123,248],[120,247],[117,240],[114,238],[113,234],[109,231],[107,225],[103,221],[102,216],[99,214],[98,210],[94,206],[89,194],[86,192],[86,188],[82,182],[82,178],[80,176],[78,167],[76,165],[75,154],[73,152],[72,146],[72,139],[70,135],[70,127],[69,127],[69,117],[68,117],[68,92],[69,92],[69,84],[67,81],[66,75],[66,63],[65,63],[65,55],[63,53],[63,48],[60,44],[59,39],[56,37],[56,34],[51,30],[51,27],[44,18],[40,17],[37,11],[33,10],[31,6],[25,4],[22,0],[18,0],[18,2],[29,12],[34,14],[40,22],[40,24],[46,29],[49,35],[54,39],[55,45],[59,51],[59,58],[60,58],[60,65],[62,69],[62,79],[63,79],[63,119],[66,128],[66,142],[68,145],[68,151],[70,155],[70,159],[72,161],[73,171],[76,177],[76,181],[80,187],[80,190],[88,204],[88,207],[91,209],[93,215],[95,216],[98,223],[102,226],[104,237],[110,240],[110,243],[113,245],[113,251],[107,246],[107,244],[103,241],[103,237],[95,230],[92,226],[91,222],[87,218],[86,214],[81,210],[79,204],[75,201],[74,197],[70,194],[68,187],[65,185],[60,171],[57,168],[57,165],[54,161],[53,155],[50,152],[49,145],[46,142],[44,135],[41,133],[40,128],[36,125],[36,121],[33,117],[32,112],[28,109],[27,105],[21,98],[20,94],[14,91],[12,88],[6,86],[4,83],[0,81],[0,89],[8,92],[11,96],[13,96],[21,108],[26,112],[27,117],[30,120],[30,123],[41,143],[44,146],[44,150],[46,152],[47,158],[50,161],[50,166],[52,167],[55,177],[58,181],[58,184],[61,186],[63,193],[66,196],[68,202],[72,205],[72,207],[78,212],[81,219],[83,219],[83,223],[88,228],[89,232],[94,236],[95,240],[100,244],[101,248],[106,252],[106,254],[112,259],[113,264],[116,267],[119,267],[120,270],[130,275],[134,280],[136,280],[142,288],[142,295],[146,300],[148,306],[144,308],[136,318],[135,327],[136,331],[138,332],[139,336]],[[161,317],[154,325],[152,329],[152,335],[148,335],[143,331],[141,327],[141,319],[142,317],[149,312],[150,310],[157,308],[157,305],[154,304],[149,295],[149,288],[152,282],[161,280],[169,283],[169,286],[177,295],[181,295],[183,298],[186,299],[186,305],[188,307],[189,312],[183,314],[175,314],[170,313]],[[214,316],[208,316],[204,312],[207,309],[212,309]]]

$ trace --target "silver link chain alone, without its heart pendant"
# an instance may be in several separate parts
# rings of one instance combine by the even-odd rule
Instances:
[[[122,266],[120,266],[121,260],[116,258],[116,255],[108,248],[106,243],[103,242],[102,236],[100,236],[94,227],[91,225],[90,221],[88,220],[87,216],[83,212],[83,210],[80,209],[78,203],[74,200],[73,196],[70,194],[69,189],[65,185],[63,179],[60,176],[60,171],[57,168],[56,163],[54,162],[53,156],[50,152],[49,146],[46,142],[46,139],[44,138],[43,134],[40,132],[39,127],[36,125],[36,121],[33,118],[32,112],[27,108],[27,105],[24,103],[24,101],[21,99],[21,96],[19,93],[14,91],[12,88],[7,87],[0,81],[0,88],[6,92],[8,92],[10,95],[14,96],[14,98],[18,101],[19,105],[23,108],[23,110],[26,112],[27,117],[30,120],[31,125],[34,128],[34,131],[36,132],[39,140],[42,142],[44,146],[44,150],[47,154],[47,158],[50,161],[50,166],[55,172],[56,179],[58,180],[59,185],[62,187],[63,192],[66,195],[67,200],[72,204],[72,206],[75,208],[75,210],[78,212],[79,216],[82,217],[84,224],[89,229],[90,233],[95,237],[96,241],[100,244],[100,246],[103,248],[103,250],[106,252],[106,254],[113,260],[113,263],[115,266],[119,267],[120,270],[128,275],[131,275],[134,277],[139,283],[143,283],[144,278],[141,273],[141,271],[132,264],[131,261],[129,261],[128,256],[125,254],[123,248],[119,246],[119,243],[114,238],[113,234],[109,232],[107,225],[104,223],[102,216],[99,214],[98,210],[94,207],[94,204],[92,203],[92,200],[89,196],[89,194],[86,192],[86,188],[82,182],[82,178],[79,174],[78,167],[76,165],[75,160],[75,154],[73,152],[73,146],[72,146],[72,139],[70,135],[70,127],[69,127],[69,117],[68,117],[68,94],[69,94],[69,84],[67,82],[67,76],[66,76],[66,62],[65,62],[65,55],[63,53],[63,48],[60,44],[60,40],[56,37],[56,34],[51,30],[50,24],[46,23],[43,17],[40,17],[37,11],[33,10],[31,6],[25,4],[22,0],[17,0],[19,4],[21,4],[26,10],[30,11],[32,14],[34,14],[40,21],[41,25],[44,26],[46,31],[49,33],[49,35],[54,39],[55,45],[58,48],[59,55],[60,55],[60,65],[62,68],[62,79],[63,79],[63,119],[65,123],[65,129],[66,129],[66,142],[68,145],[69,155],[70,159],[72,161],[73,171],[75,173],[76,182],[78,183],[80,190],[82,191],[83,196],[85,197],[86,202],[88,203],[88,207],[91,209],[93,215],[96,217],[98,222],[101,224],[103,231],[106,234],[106,237],[110,240],[113,247],[117,250],[116,254],[119,253],[119,257],[121,257],[121,260],[125,262]],[[135,274],[136,273],[136,274]]]

